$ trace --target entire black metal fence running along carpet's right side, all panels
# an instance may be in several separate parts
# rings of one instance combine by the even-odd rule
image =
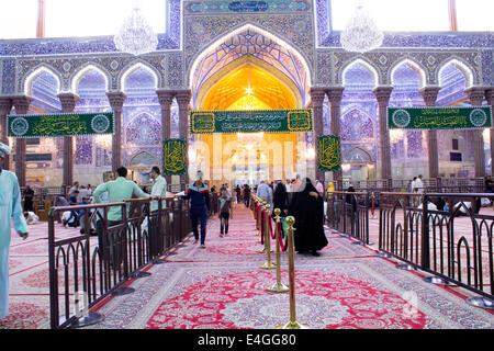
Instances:
[[[372,193],[334,192],[326,201],[328,226],[369,244]],[[431,282],[481,295],[469,298],[473,305],[493,307],[494,215],[480,210],[483,203],[492,206],[494,194],[381,191],[375,202],[381,256],[405,263],[398,268],[433,274]]]

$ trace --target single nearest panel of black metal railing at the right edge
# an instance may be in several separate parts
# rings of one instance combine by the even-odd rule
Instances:
[[[442,197],[448,211],[428,208]],[[494,215],[480,214],[481,199],[494,200],[485,193],[430,193],[424,196],[423,261],[420,268],[486,297],[494,295],[493,227]],[[470,236],[458,227],[465,216]],[[458,233],[460,233],[458,235]],[[484,261],[485,257],[485,261]],[[486,282],[484,282],[486,279]]]

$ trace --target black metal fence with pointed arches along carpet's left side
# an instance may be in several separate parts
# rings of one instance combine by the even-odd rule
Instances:
[[[128,281],[191,231],[188,202],[137,199],[122,203],[53,207],[48,215],[50,327],[80,326],[109,295],[131,293]],[[156,208],[157,206],[157,208]],[[117,215],[110,208],[117,208]],[[154,210],[154,211],[151,211]],[[58,213],[78,212],[80,234],[60,238]],[[149,274],[149,273],[147,273]],[[82,305],[82,309],[80,306]],[[86,310],[83,310],[86,309]]]

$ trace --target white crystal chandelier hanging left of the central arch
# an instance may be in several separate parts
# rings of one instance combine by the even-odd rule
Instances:
[[[156,49],[158,38],[139,8],[134,7],[113,38],[119,50],[141,55]]]

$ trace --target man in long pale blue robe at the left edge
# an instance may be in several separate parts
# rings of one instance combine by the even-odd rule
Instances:
[[[10,147],[0,143],[0,166]],[[21,190],[18,177],[0,168],[0,318],[9,314],[9,247],[11,238],[11,218],[18,234],[27,238],[27,224],[21,206]]]

